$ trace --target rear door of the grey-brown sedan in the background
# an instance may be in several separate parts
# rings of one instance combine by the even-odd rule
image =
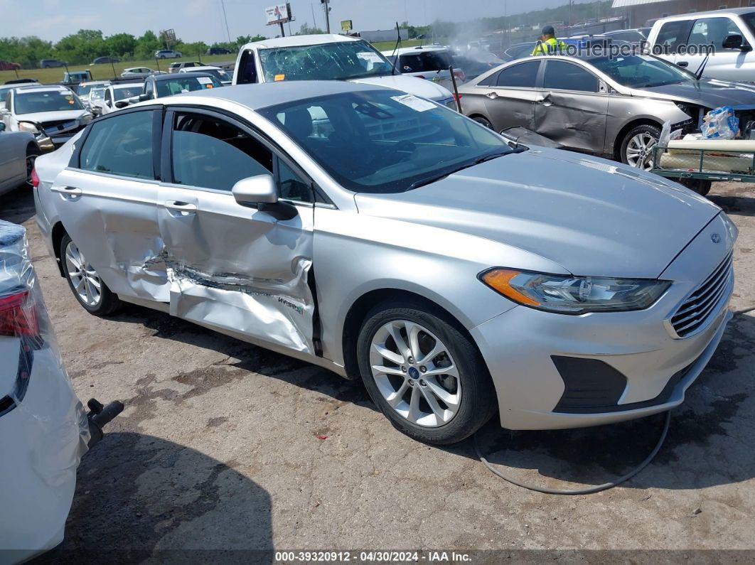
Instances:
[[[479,87],[495,131],[522,126],[534,129],[535,103],[542,97],[541,60],[529,60],[501,70],[491,84]]]

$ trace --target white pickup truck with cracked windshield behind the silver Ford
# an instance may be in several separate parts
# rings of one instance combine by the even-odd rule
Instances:
[[[448,88],[424,78],[400,75],[367,41],[344,35],[294,35],[254,41],[241,48],[233,72],[233,84],[304,80],[379,84],[456,109]]]

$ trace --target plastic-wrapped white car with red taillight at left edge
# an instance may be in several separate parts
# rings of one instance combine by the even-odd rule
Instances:
[[[123,405],[88,415],[57,349],[22,226],[0,221],[0,562],[63,541],[76,468]]]

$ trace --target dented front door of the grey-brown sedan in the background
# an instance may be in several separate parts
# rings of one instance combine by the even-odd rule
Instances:
[[[602,153],[609,95],[599,78],[575,63],[549,59],[543,85],[535,131],[570,149]]]

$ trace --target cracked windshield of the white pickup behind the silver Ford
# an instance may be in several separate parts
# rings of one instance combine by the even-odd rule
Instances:
[[[391,64],[365,41],[260,50],[266,82],[347,80],[390,75]]]

